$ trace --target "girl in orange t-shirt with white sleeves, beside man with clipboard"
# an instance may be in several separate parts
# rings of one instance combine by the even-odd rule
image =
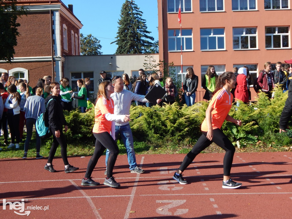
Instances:
[[[95,123],[93,135],[96,138],[95,149],[81,182],[83,186],[99,185],[98,182],[92,180],[91,173],[105,149],[109,150],[109,159],[107,161],[107,177],[103,184],[110,187],[120,186],[112,176],[112,170],[119,154],[119,148],[114,140],[114,121],[130,121],[130,115],[114,115],[114,101],[110,98],[112,93],[114,93],[114,87],[110,81],[100,83],[97,93],[98,99],[94,107]]]

